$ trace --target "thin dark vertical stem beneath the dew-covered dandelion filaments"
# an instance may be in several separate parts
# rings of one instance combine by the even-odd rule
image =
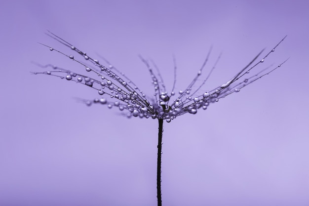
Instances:
[[[157,170],[156,170],[156,197],[158,199],[158,206],[162,206],[161,200],[161,151],[162,151],[162,133],[163,133],[163,119],[159,120],[159,133],[158,133],[158,157],[157,157]]]

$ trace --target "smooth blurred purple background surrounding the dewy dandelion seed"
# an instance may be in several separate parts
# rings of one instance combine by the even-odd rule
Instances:
[[[305,0],[1,2],[0,205],[156,205],[157,121],[86,107],[73,97],[92,99],[95,90],[31,75],[45,71],[31,61],[83,69],[37,43],[62,48],[46,29],[102,54],[150,95],[138,54],[155,60],[169,89],[175,54],[183,89],[213,45],[212,63],[223,52],[206,86],[213,88],[288,35],[263,63],[291,57],[279,70],[164,125],[162,201],[309,205],[308,7]]]

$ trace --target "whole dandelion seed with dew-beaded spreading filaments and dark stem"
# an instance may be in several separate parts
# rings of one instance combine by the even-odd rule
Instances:
[[[162,153],[162,132],[163,121],[170,123],[178,116],[182,116],[186,113],[196,114],[198,110],[206,110],[211,103],[218,102],[221,98],[224,98],[234,92],[239,92],[243,87],[261,79],[265,75],[270,74],[277,68],[279,68],[287,60],[281,64],[271,68],[268,67],[255,75],[249,76],[249,72],[257,68],[258,65],[265,62],[269,55],[275,51],[277,46],[286,38],[286,36],[279,41],[266,55],[259,59],[264,49],[258,53],[249,64],[247,64],[242,70],[234,75],[229,81],[223,82],[220,86],[213,89],[205,90],[203,85],[210,78],[210,75],[215,70],[216,65],[220,59],[220,55],[217,58],[215,64],[208,72],[207,76],[202,79],[202,73],[208,62],[211,49],[209,50],[206,59],[204,60],[201,68],[197,71],[193,80],[187,87],[182,90],[175,90],[176,87],[176,72],[177,66],[174,58],[174,82],[171,91],[169,92],[164,84],[163,78],[153,61],[148,61],[142,56],[139,56],[142,62],[147,67],[151,81],[154,86],[154,98],[149,98],[143,91],[127,77],[121,73],[115,66],[113,66],[108,60],[103,58],[105,63],[100,63],[99,60],[93,59],[85,52],[78,49],[73,44],[69,43],[48,31],[48,36],[54,40],[64,44],[72,49],[74,54],[81,56],[83,60],[77,60],[73,54],[66,54],[53,47],[42,44],[50,49],[50,51],[58,52],[71,60],[77,62],[83,66],[85,71],[89,75],[78,74],[74,71],[59,68],[51,64],[39,65],[43,68],[51,68],[46,72],[35,72],[34,74],[44,74],[53,77],[58,77],[70,82],[77,82],[91,87],[97,90],[101,98],[95,98],[93,100],[79,99],[86,105],[92,104],[106,105],[108,108],[117,108],[126,117],[139,117],[139,118],[152,118],[157,119],[158,126],[158,145],[157,145],[157,201],[158,206],[161,206],[161,153]],[[91,75],[93,77],[91,77]],[[200,81],[201,80],[201,81]],[[198,84],[198,82],[200,82]]]

